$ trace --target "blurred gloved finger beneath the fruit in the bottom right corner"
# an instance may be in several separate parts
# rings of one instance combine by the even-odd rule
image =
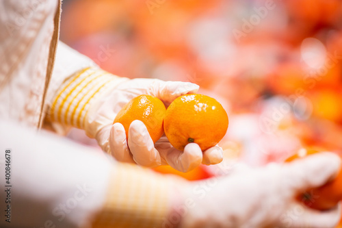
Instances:
[[[341,218],[341,203],[328,211],[312,210],[300,203],[293,203],[280,217],[280,227],[336,227]]]

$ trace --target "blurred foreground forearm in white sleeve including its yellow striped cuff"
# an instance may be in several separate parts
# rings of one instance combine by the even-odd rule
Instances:
[[[9,183],[1,164],[0,227],[160,227],[174,202],[172,186],[183,183],[44,131],[0,125],[1,161],[10,151]]]

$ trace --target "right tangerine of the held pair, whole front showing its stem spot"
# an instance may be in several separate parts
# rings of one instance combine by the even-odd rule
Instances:
[[[196,142],[205,151],[218,144],[227,129],[228,115],[222,105],[203,94],[176,98],[164,118],[166,137],[181,151],[190,142]]]

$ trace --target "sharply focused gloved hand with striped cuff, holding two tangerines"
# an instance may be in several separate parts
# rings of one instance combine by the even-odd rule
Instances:
[[[153,95],[161,99],[165,105],[170,105],[176,97],[197,92],[196,84],[159,79],[127,79],[109,73],[101,74],[98,71],[101,70],[85,69],[75,76],[76,79],[74,77],[66,81],[55,98],[51,116],[55,116],[57,121],[63,122],[64,119],[64,122],[68,124],[85,129],[88,136],[96,138],[101,148],[120,162],[135,162],[148,167],[170,164],[173,168],[186,172],[200,165],[201,162],[217,164],[222,161],[222,149],[218,146],[202,152],[198,144],[192,143],[188,144],[182,152],[174,149],[166,136],[162,136],[153,144],[153,140],[141,121],[131,123],[127,142],[123,126],[120,123],[112,124],[122,107],[140,94]],[[81,82],[77,83],[77,81]],[[93,81],[98,82],[93,83]],[[85,86],[80,84],[85,84]],[[95,89],[90,89],[90,84],[94,84]],[[97,90],[96,85],[98,85]],[[80,91],[76,97],[73,97],[73,90]],[[91,90],[96,92],[90,95],[88,91]],[[81,108],[79,103],[87,100],[84,97],[90,97],[90,99],[86,101],[88,105],[83,105],[84,108]],[[60,106],[56,107],[59,104]],[[59,113],[62,113],[61,118],[59,118],[61,115]],[[73,118],[73,116],[77,117]]]

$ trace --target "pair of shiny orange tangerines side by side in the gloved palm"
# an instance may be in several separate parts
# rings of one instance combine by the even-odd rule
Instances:
[[[196,142],[202,151],[213,147],[226,134],[228,115],[215,99],[203,94],[185,94],[166,109],[157,97],[140,95],[122,107],[114,123],[121,123],[128,138],[129,126],[142,121],[153,142],[165,132],[172,146],[181,151]]]

